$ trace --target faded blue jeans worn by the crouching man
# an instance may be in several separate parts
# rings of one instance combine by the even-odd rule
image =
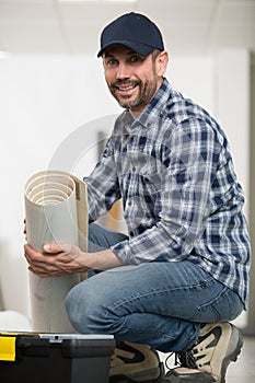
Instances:
[[[91,252],[126,239],[96,224],[89,231]],[[243,310],[232,290],[189,260],[97,272],[70,290],[66,305],[79,333],[113,334],[163,352],[192,347],[201,323],[231,321]]]

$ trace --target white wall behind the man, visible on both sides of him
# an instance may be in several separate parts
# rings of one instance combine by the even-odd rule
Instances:
[[[248,121],[245,119],[248,62],[244,51],[234,51],[234,57],[231,55],[171,57],[166,74],[174,88],[224,123],[225,130],[231,132],[236,167],[247,192],[247,178],[243,175],[247,174],[248,165]],[[234,63],[231,58],[234,58]],[[233,91],[242,94],[237,111]],[[111,116],[119,113],[120,108],[108,94],[101,61],[93,57],[20,56],[0,60],[0,243],[4,243],[1,257],[5,262],[23,257],[23,190],[27,177],[47,169],[51,159],[59,169],[69,166],[70,171],[71,166],[78,176],[86,174],[96,159],[96,130],[108,130],[113,120]],[[79,130],[83,125],[84,129]],[[79,139],[76,132],[79,132]],[[67,142],[79,147],[78,153],[72,151],[68,162],[63,155],[70,149]],[[10,304],[12,309],[27,312],[26,265],[23,260],[16,260],[16,264],[19,269],[12,271],[19,290],[18,293],[13,290],[14,298],[10,298]],[[4,278],[8,279],[7,276]]]

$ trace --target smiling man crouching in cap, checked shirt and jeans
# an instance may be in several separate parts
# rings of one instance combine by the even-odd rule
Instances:
[[[126,111],[84,178],[90,252],[25,245],[30,270],[105,270],[79,283],[67,311],[80,333],[114,334],[111,382],[224,382],[242,338],[250,240],[227,138],[201,107],[174,91],[167,53],[147,16],[124,14],[101,35],[105,80]],[[128,235],[94,222],[123,198]],[[155,350],[181,367],[163,378]]]

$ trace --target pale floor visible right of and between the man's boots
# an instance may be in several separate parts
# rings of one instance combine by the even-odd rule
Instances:
[[[165,359],[165,355],[161,355]],[[167,363],[173,365],[171,358]],[[236,362],[231,363],[227,371],[225,383],[253,383],[255,382],[255,337],[244,337],[244,346]]]

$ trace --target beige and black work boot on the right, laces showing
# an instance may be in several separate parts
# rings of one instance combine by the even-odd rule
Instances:
[[[242,337],[232,324],[207,324],[196,345],[177,353],[181,367],[170,370],[163,382],[224,383],[227,368],[237,359],[242,346]]]

